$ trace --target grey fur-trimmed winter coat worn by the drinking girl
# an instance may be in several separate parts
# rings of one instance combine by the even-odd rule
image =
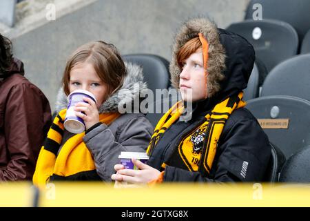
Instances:
[[[139,93],[147,89],[143,83],[142,69],[130,63],[125,65],[127,76],[123,86],[101,105],[99,113],[117,112],[118,104],[134,102],[139,99]],[[123,90],[130,91],[130,94],[121,93]],[[67,97],[61,89],[57,97],[56,112],[66,108],[67,104]],[[118,155],[121,151],[145,152],[153,130],[152,124],[142,113],[125,113],[109,126],[99,123],[89,128],[83,141],[94,157],[96,172],[101,180],[111,181],[111,175],[115,173],[114,165],[119,163]],[[72,136],[72,133],[65,131],[61,146]]]

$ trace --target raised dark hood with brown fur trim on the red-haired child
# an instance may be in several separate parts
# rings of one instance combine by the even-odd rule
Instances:
[[[169,66],[174,88],[179,88],[180,81],[181,70],[176,59],[178,52],[187,41],[198,37],[198,33],[202,33],[209,44],[208,97],[229,95],[246,88],[255,61],[253,46],[240,35],[217,28],[213,22],[203,17],[189,19],[176,33]]]

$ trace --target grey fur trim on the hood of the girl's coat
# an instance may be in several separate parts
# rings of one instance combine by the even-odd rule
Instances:
[[[143,81],[143,70],[136,64],[125,62],[127,75],[124,79],[123,86],[112,94],[108,99],[101,104],[99,113],[117,112],[119,105],[134,103],[140,99],[141,94],[145,94],[147,84]],[[63,88],[59,89],[56,99],[56,112],[59,113],[64,108],[67,108],[68,101]]]

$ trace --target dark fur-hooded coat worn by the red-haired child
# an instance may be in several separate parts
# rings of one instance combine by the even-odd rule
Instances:
[[[188,122],[177,121],[169,126],[152,151],[148,164],[163,171],[164,182],[260,182],[265,175],[271,146],[256,118],[246,109],[238,108],[223,128],[209,175],[189,171],[181,163],[177,147],[184,136],[203,124],[205,115],[227,97],[238,95],[247,87],[254,66],[255,52],[251,44],[231,32],[216,28],[207,19],[191,19],[176,35],[170,64],[172,84],[178,88],[180,68],[178,50],[198,33],[209,44],[207,62],[207,99],[193,103],[194,112]],[[202,141],[203,142],[203,141]],[[201,162],[200,162],[201,163]]]

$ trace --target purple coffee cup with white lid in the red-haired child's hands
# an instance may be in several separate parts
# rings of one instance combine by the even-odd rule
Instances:
[[[121,155],[118,155],[118,159],[120,159],[120,162],[125,169],[137,170],[136,166],[134,166],[134,163],[132,162],[132,158],[140,160],[143,164],[149,160],[149,156],[144,152],[121,152]]]

